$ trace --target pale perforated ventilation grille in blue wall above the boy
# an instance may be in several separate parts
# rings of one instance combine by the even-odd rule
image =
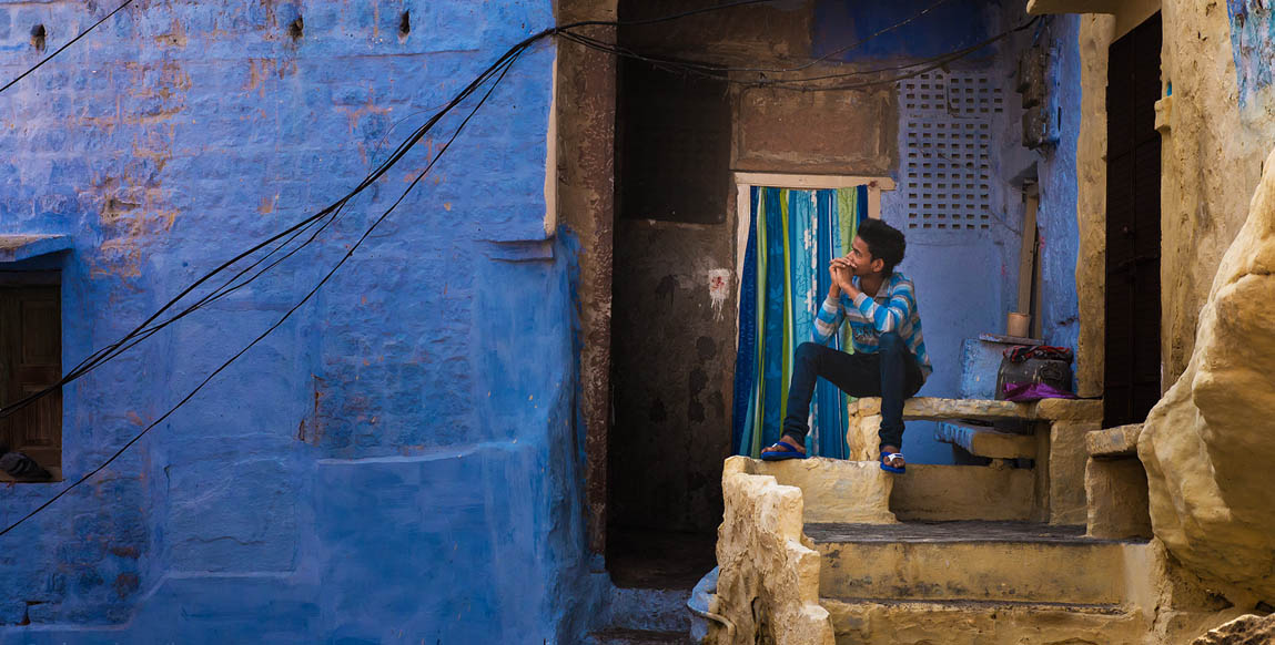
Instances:
[[[1003,102],[987,74],[935,71],[899,84],[909,229],[991,228],[988,144]]]

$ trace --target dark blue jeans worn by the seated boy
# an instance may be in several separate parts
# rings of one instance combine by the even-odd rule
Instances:
[[[898,333],[882,333],[873,354],[845,354],[813,342],[797,347],[784,435],[805,444],[810,399],[824,377],[852,397],[881,397],[881,445],[903,448],[903,402],[921,389],[921,365]]]

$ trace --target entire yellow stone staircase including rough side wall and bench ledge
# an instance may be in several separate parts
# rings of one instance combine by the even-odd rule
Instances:
[[[1094,434],[1086,447],[1089,421],[1075,408],[1047,416],[1043,406],[992,403],[940,402],[950,408],[941,413],[923,403],[915,413],[1026,417],[1035,445],[1009,445],[1033,448],[1033,468],[912,464],[890,476],[867,461],[728,459],[713,611],[733,634],[710,631],[709,641],[1178,645],[1225,620],[1224,600],[1178,570],[1140,522],[1093,513],[1113,509],[1099,497],[1127,495],[1102,459],[1127,458],[1128,441]],[[1007,449],[998,436],[969,438]]]

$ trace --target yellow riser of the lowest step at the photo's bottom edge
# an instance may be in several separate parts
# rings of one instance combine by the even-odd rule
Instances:
[[[824,600],[839,645],[1137,645],[1150,627],[1136,613]]]

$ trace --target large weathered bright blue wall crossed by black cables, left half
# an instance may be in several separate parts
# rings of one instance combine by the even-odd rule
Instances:
[[[52,51],[98,5],[0,3],[0,76],[41,57],[34,24]],[[339,197],[552,20],[547,0],[143,1],[0,94],[0,233],[75,239],[42,260],[64,270],[65,366]],[[574,251],[543,229],[553,56],[544,42],[518,62],[314,302],[0,537],[0,642],[581,634],[597,593],[572,434]],[[456,123],[314,249],[69,387],[68,478],[282,316]],[[60,486],[0,490],[0,523]]]

